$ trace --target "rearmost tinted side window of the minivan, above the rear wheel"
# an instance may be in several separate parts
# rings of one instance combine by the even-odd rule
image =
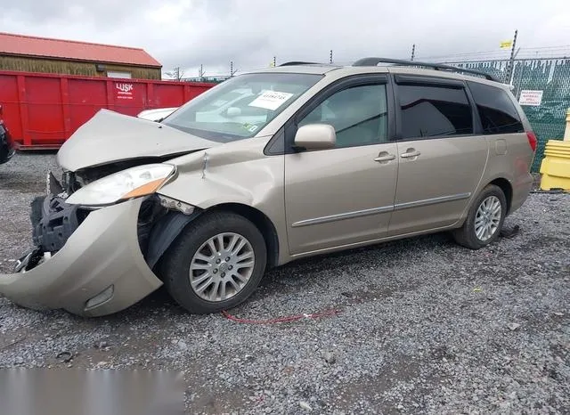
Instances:
[[[468,82],[485,134],[524,133],[517,109],[509,94],[491,85]]]

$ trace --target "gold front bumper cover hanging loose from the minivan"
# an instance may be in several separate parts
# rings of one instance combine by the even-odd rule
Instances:
[[[0,293],[35,309],[83,316],[116,313],[162,285],[142,256],[137,218],[142,199],[94,210],[63,247],[29,271],[0,274]],[[19,264],[27,269],[34,255]]]

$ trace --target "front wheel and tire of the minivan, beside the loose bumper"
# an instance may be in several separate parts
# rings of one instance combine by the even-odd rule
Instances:
[[[191,222],[160,261],[168,293],[190,313],[216,313],[245,301],[265,273],[265,240],[231,212]]]

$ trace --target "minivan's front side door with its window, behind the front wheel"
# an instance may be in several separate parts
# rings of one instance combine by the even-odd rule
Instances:
[[[336,147],[285,155],[291,255],[379,240],[394,209],[398,158],[388,142],[386,77],[352,80],[322,97],[298,126],[329,124]],[[294,134],[293,134],[294,135]]]

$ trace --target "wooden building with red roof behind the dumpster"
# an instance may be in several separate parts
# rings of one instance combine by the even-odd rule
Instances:
[[[0,32],[0,70],[160,79],[161,69],[140,48]]]

